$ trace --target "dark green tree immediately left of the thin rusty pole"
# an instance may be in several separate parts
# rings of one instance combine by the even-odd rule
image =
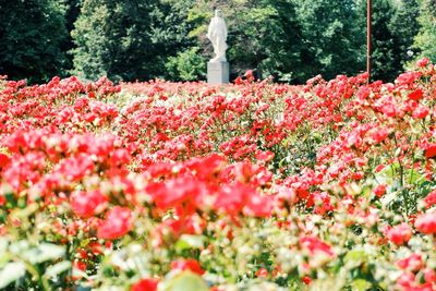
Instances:
[[[326,78],[365,70],[365,25],[355,0],[296,1],[305,76]]]

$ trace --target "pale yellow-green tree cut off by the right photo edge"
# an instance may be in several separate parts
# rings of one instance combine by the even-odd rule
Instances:
[[[420,57],[427,57],[436,62],[436,2],[422,0],[417,21],[421,25],[414,38],[413,47],[421,51]]]

